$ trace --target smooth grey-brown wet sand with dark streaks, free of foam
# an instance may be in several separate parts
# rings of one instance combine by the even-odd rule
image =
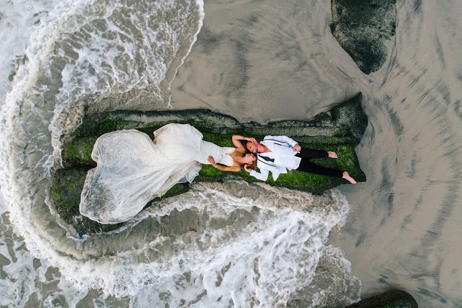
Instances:
[[[351,211],[330,242],[362,298],[397,288],[419,307],[462,307],[462,5],[396,7],[389,59],[365,75],[332,36],[329,2],[206,2],[171,106],[265,123],[310,119],[362,91],[368,181],[340,187]]]

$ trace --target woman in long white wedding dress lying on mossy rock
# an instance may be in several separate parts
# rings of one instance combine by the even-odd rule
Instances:
[[[220,147],[202,140],[189,124],[167,124],[154,132],[152,142],[144,132],[130,129],[103,134],[91,158],[98,166],[89,170],[81,194],[80,213],[99,223],[119,223],[135,216],[152,199],[176,183],[192,182],[202,164],[222,171],[256,168],[256,157],[233,136],[235,147]]]

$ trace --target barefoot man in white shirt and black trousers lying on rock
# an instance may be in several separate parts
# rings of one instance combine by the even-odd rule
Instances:
[[[356,181],[350,177],[347,171],[326,168],[311,162],[313,158],[337,158],[337,153],[331,151],[302,148],[296,141],[287,136],[266,136],[258,143],[254,138],[249,138],[245,144],[247,150],[257,153],[257,168],[260,172],[252,170],[244,165],[245,171],[259,180],[266,181],[269,171],[273,179],[280,174],[286,174],[287,170],[298,170],[312,174],[343,178],[352,184]]]

